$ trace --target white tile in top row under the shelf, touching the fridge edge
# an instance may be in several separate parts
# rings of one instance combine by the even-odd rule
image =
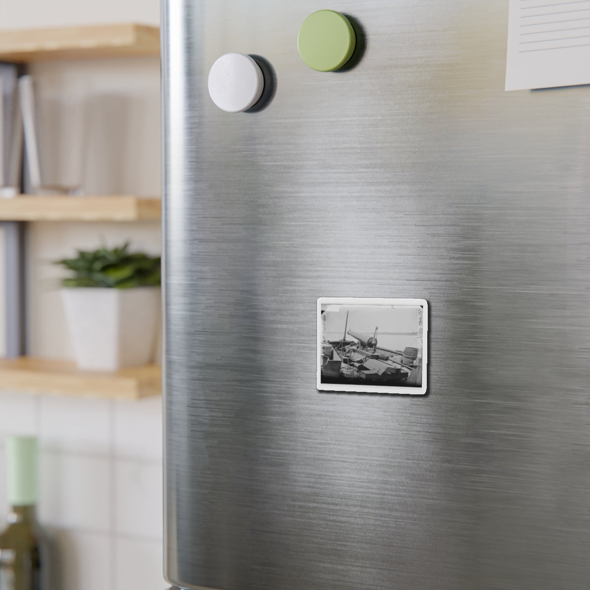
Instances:
[[[162,398],[115,402],[114,444],[117,457],[162,458]]]

